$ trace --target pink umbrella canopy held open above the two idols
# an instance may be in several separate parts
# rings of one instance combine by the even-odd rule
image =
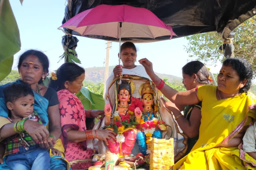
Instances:
[[[163,23],[151,11],[128,5],[99,5],[83,11],[62,26],[85,37],[144,38],[154,41],[175,35],[171,26]],[[97,38],[97,37],[96,37]],[[126,41],[126,40],[125,40]]]

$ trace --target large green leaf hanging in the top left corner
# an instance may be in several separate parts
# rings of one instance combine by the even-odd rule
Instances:
[[[2,61],[7,62],[7,58],[13,58],[13,55],[20,50],[20,46],[17,22],[9,0],[4,0],[3,6],[0,8],[0,63]],[[8,63],[10,63],[10,60],[8,60]]]

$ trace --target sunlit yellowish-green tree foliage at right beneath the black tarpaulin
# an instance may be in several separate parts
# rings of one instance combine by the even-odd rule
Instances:
[[[256,16],[248,19],[234,30],[233,43],[235,46],[234,55],[244,57],[253,65],[256,70]],[[217,32],[196,34],[186,37],[188,44],[185,50],[190,57],[197,57],[197,60],[214,64],[216,60],[224,60],[224,55],[219,47],[223,39]]]

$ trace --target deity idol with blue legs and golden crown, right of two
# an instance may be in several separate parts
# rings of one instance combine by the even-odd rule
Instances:
[[[137,132],[136,142],[140,152],[147,155],[150,153],[150,138],[161,139],[163,131],[166,131],[167,127],[157,117],[158,107],[154,104],[155,93],[149,81],[140,86],[139,93],[143,103],[143,111],[141,112],[138,108],[135,109],[135,121],[140,124],[141,129]]]

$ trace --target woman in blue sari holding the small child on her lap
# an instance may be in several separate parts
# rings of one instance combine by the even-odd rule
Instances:
[[[60,114],[59,114],[59,101],[57,93],[54,89],[41,85],[48,74],[49,60],[47,56],[37,50],[28,50],[24,52],[18,63],[18,70],[21,79],[15,81],[16,83],[27,83],[34,91],[35,104],[34,110],[38,113],[42,119],[43,124],[27,120],[23,124],[24,131],[36,141],[39,142],[42,148],[53,148],[54,145],[58,150],[53,149],[51,153],[51,169],[67,169],[69,164],[66,161],[56,158],[56,153],[61,155],[60,151],[64,152],[61,140],[57,140],[61,134],[60,127]],[[5,105],[3,90],[10,84],[0,86],[0,136],[1,139],[12,136],[19,133],[14,130],[14,123],[11,123],[8,117],[8,110]],[[49,131],[46,127],[49,126]],[[57,140],[49,141],[48,137],[54,136]],[[64,156],[64,155],[63,155]],[[57,158],[60,158],[57,156]],[[64,159],[64,158],[63,158]],[[68,167],[67,167],[67,165]]]

